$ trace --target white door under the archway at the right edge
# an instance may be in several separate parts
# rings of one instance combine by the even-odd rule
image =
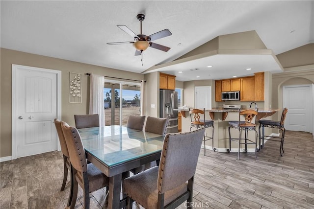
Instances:
[[[287,130],[313,133],[313,84],[283,86],[283,107],[288,108]]]

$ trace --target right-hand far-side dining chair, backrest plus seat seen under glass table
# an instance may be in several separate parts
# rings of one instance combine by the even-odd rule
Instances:
[[[159,134],[162,136],[165,136],[167,133],[167,125],[168,125],[168,118],[159,118],[159,117],[151,117],[148,116],[145,124],[145,132],[150,132],[154,134]],[[151,163],[146,163],[144,165],[141,165],[137,168],[133,168],[130,171],[133,174],[137,174],[139,172],[142,172],[148,168],[154,167],[157,165],[156,161],[153,161]]]

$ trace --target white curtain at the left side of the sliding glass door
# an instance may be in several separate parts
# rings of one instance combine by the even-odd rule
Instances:
[[[104,85],[103,75],[90,74],[89,114],[99,115],[100,126],[105,126]]]

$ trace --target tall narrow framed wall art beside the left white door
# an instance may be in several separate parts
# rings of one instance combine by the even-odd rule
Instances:
[[[70,72],[70,103],[82,103],[82,74]]]

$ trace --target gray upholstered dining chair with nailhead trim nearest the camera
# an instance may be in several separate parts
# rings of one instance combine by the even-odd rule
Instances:
[[[176,208],[187,200],[192,208],[193,181],[205,128],[167,134],[159,166],[126,178],[127,207],[135,201],[145,209]]]

